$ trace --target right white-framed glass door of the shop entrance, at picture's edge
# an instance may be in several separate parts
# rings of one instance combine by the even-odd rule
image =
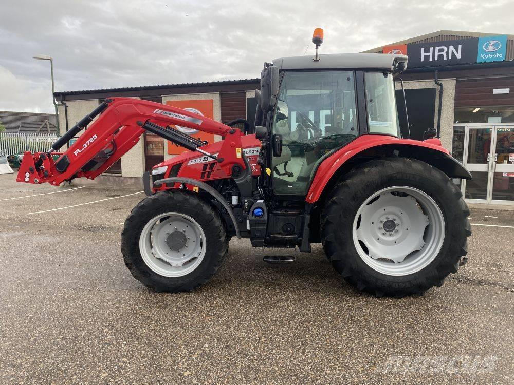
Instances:
[[[495,127],[491,159],[491,203],[514,203],[514,126]]]

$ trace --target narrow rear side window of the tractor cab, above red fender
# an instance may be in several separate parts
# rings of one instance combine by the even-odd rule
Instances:
[[[369,132],[399,137],[400,129],[393,75],[382,72],[366,72],[364,82]]]

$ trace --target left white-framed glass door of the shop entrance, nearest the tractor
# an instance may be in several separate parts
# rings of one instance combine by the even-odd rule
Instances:
[[[465,164],[473,177],[465,181],[464,197],[470,202],[487,203],[490,187],[493,126],[468,126]]]

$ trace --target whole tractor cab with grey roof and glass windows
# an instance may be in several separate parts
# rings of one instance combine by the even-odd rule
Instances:
[[[270,142],[271,194],[304,198],[318,166],[359,136],[400,137],[394,76],[406,66],[405,55],[365,53],[266,64],[257,124]]]

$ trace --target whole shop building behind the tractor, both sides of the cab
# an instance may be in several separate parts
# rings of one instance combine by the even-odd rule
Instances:
[[[466,200],[514,204],[514,35],[438,31],[366,52],[404,53],[408,69],[396,82],[404,137],[423,139],[438,128],[443,145],[471,172],[455,180]],[[221,122],[253,120],[259,79],[56,92],[61,134],[107,97],[130,97],[187,108]],[[511,92],[512,90],[512,92]],[[405,113],[408,111],[408,124]],[[308,111],[307,111],[308,112]],[[218,137],[203,137],[208,141]],[[181,149],[146,133],[108,173],[95,181],[140,187],[141,175]]]

